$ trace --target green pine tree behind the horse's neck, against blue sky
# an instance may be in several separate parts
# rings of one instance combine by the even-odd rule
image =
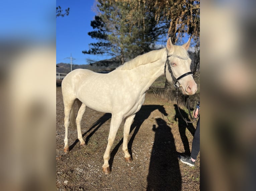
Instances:
[[[115,56],[123,64],[125,59],[150,51],[159,33],[156,33],[154,14],[146,8],[145,1],[98,2],[101,14],[91,22],[91,26],[97,30],[88,34],[99,42],[91,43],[90,50],[83,53]]]

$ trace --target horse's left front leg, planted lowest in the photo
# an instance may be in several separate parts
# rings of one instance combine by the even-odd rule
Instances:
[[[110,155],[110,149],[114,143],[115,137],[117,130],[123,120],[123,116],[118,116],[118,115],[113,115],[111,118],[111,123],[110,123],[110,130],[109,130],[109,136],[108,136],[108,145],[106,148],[106,151],[104,153],[103,159],[104,159],[104,164],[102,166],[102,170],[105,174],[109,174],[110,167],[109,167],[109,155]]]

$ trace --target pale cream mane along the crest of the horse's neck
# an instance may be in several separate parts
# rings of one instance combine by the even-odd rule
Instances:
[[[124,63],[123,65],[119,66],[117,69],[121,70],[131,70],[140,65],[149,64],[155,62],[162,58],[163,52],[166,51],[166,48],[160,50],[153,50],[143,55],[137,56],[134,59]]]

